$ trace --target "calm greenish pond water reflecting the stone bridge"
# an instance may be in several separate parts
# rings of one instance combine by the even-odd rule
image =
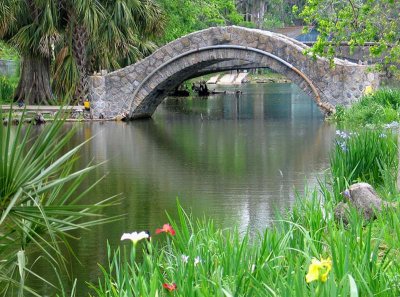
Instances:
[[[106,175],[88,202],[120,194],[121,203],[106,214],[126,216],[74,233],[78,296],[87,292],[85,281],[96,281],[98,263],[107,262],[107,241],[116,247],[123,232],[162,226],[166,212],[176,215],[177,199],[218,227],[255,232],[289,208],[296,191],[316,185],[328,168],[335,128],[312,99],[292,84],[248,84],[241,94],[237,88],[208,99],[166,99],[150,120],[79,124],[71,145],[94,137],[80,164],[107,161],[85,181]],[[41,292],[52,295],[49,288]]]

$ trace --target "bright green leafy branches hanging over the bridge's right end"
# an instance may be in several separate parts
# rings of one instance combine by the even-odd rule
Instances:
[[[307,0],[300,16],[320,33],[314,55],[333,59],[342,42],[353,49],[374,42],[370,55],[395,70],[400,65],[399,11],[400,2],[393,0]]]

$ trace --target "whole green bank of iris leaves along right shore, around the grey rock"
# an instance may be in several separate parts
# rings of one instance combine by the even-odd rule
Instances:
[[[399,201],[397,137],[390,129],[337,131],[330,167],[318,188],[255,235],[195,220],[178,202],[173,235],[108,249],[91,296],[399,296],[399,209],[368,221],[349,206],[347,222],[335,218],[358,181]]]

